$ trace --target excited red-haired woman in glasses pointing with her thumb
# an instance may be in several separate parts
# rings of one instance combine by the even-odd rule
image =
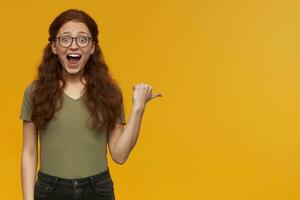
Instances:
[[[23,199],[115,199],[107,144],[113,161],[125,163],[146,103],[161,94],[152,94],[150,85],[136,84],[126,124],[122,93],[104,62],[95,21],[70,9],[55,18],[49,34],[20,113]]]

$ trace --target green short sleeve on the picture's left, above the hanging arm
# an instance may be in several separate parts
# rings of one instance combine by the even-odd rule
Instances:
[[[19,119],[31,121],[31,114],[32,114],[32,104],[30,101],[30,85],[28,85],[23,93],[23,101],[21,106],[21,112],[19,115]]]

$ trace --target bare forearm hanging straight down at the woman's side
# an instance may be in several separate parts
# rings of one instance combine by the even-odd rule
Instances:
[[[22,153],[21,182],[23,200],[34,199],[34,184],[36,179],[37,155]]]

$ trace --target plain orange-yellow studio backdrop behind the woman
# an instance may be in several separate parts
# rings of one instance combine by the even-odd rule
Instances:
[[[2,199],[21,199],[23,91],[69,8],[97,21],[127,120],[135,83],[163,95],[127,162],[108,154],[118,200],[300,199],[300,3],[289,0],[2,2]]]

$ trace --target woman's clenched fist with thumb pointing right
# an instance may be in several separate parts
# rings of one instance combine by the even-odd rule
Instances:
[[[160,93],[152,94],[152,87],[145,83],[137,83],[133,86],[133,106],[145,106],[148,101],[155,97],[161,97]]]

